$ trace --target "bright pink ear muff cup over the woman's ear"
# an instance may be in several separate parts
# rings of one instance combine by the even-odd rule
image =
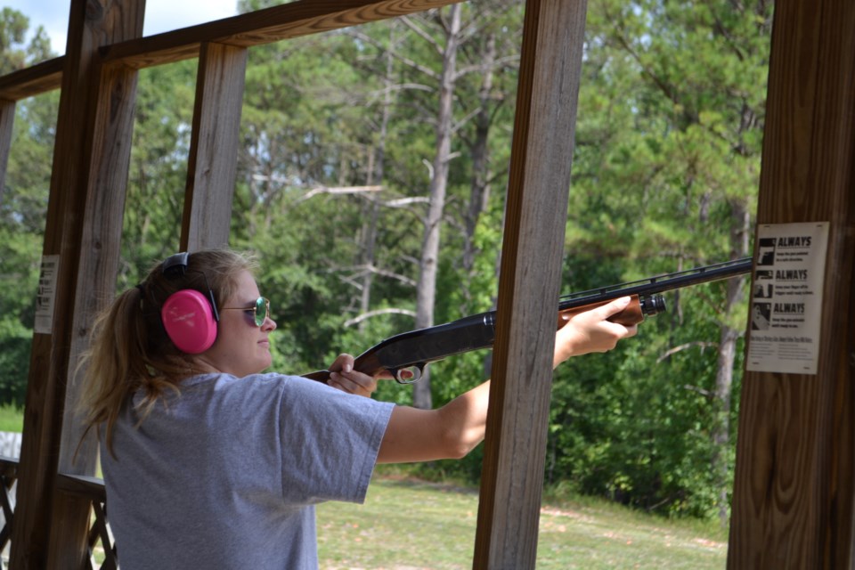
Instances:
[[[203,353],[216,339],[216,320],[211,304],[193,289],[173,293],[160,309],[169,339],[184,353]]]

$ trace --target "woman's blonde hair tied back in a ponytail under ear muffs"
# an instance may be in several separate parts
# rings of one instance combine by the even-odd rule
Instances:
[[[181,289],[196,289],[208,297],[213,291],[217,306],[231,298],[240,273],[255,273],[253,257],[230,249],[193,252],[181,276],[165,275],[163,263],[151,268],[142,283],[113,301],[94,323],[89,350],[78,364],[83,373],[78,407],[85,433],[103,427],[107,448],[113,451],[113,427],[119,413],[134,394],[140,422],[168,393],[180,393],[181,380],[193,374],[191,354],[183,354],[167,337],[160,321],[160,307]]]

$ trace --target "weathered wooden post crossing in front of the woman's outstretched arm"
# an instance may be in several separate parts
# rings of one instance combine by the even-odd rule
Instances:
[[[585,0],[528,0],[499,283],[476,568],[533,568]]]

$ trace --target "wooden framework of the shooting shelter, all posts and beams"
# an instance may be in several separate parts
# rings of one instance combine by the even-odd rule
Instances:
[[[90,438],[72,463],[81,429],[63,411],[99,293],[115,286],[138,70],[199,61],[175,249],[221,246],[248,48],[445,4],[300,0],[142,37],[143,0],[71,0],[65,55],[0,77],[0,179],[16,102],[61,89],[43,248],[57,262],[53,323],[33,338],[20,462],[2,470],[7,488],[18,482],[2,534],[12,568],[90,567],[93,509],[92,537],[106,540],[96,446]],[[555,328],[555,308],[540,300],[558,297],[586,9],[525,4],[476,568],[534,566]],[[815,375],[745,373],[729,568],[855,566],[853,30],[851,0],[775,4],[757,222],[830,223],[822,346]]]

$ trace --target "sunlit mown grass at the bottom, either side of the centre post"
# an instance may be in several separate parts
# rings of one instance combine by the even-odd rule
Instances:
[[[318,507],[323,570],[472,567],[476,490],[376,478],[364,505]],[[715,527],[670,521],[604,501],[544,506],[538,570],[724,568],[727,542]]]

